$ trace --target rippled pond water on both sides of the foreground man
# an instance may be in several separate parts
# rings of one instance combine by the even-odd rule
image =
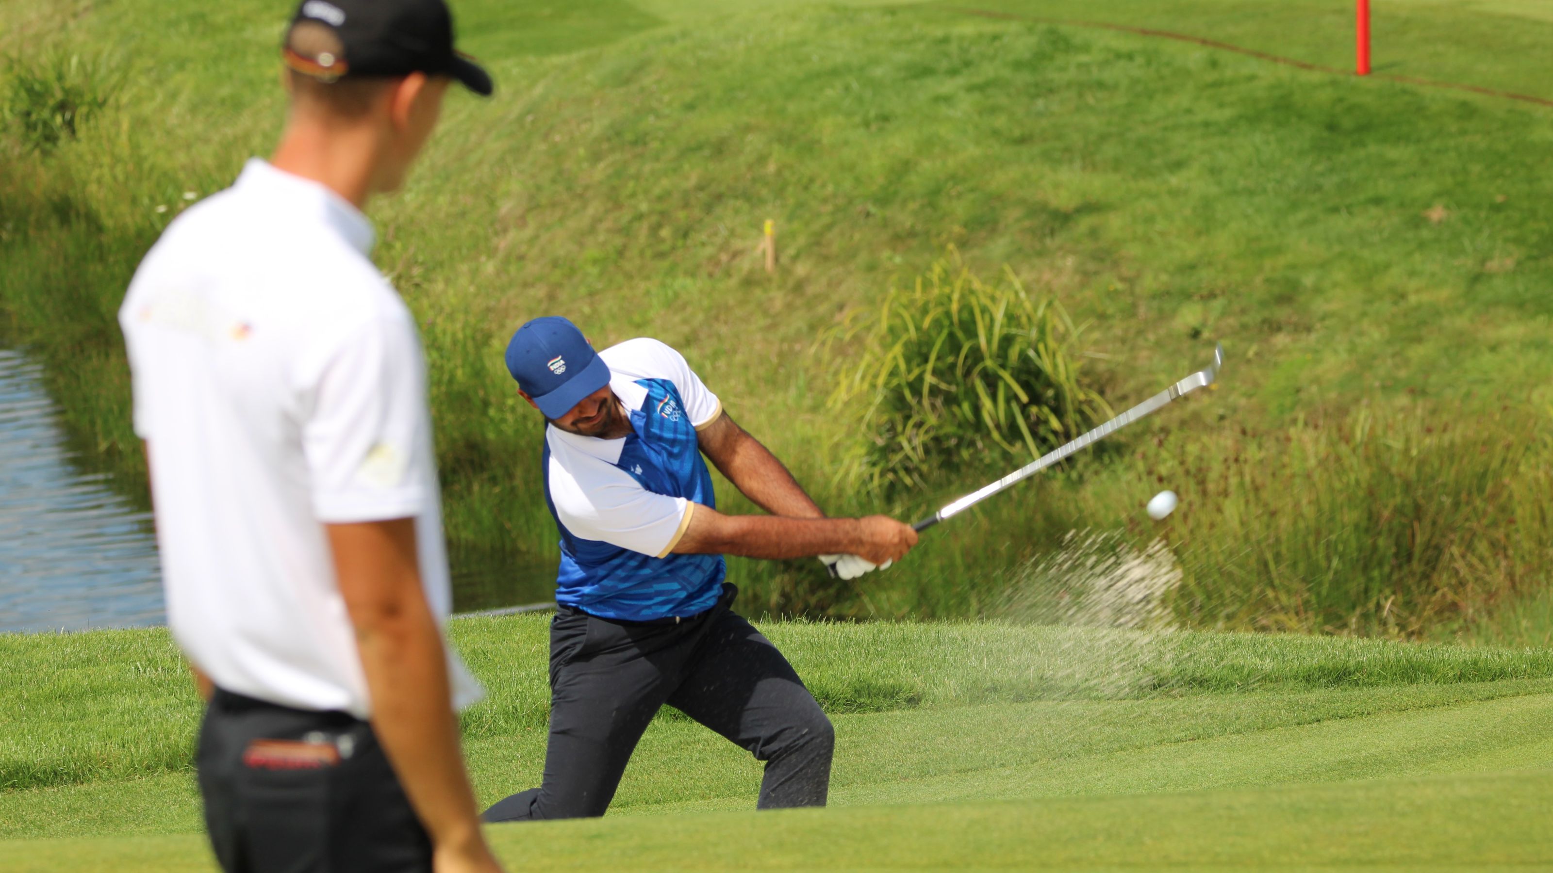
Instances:
[[[0,350],[0,632],[166,621],[151,516],[106,478],[71,461],[42,368]],[[460,610],[542,609],[554,595],[554,559],[452,561]]]

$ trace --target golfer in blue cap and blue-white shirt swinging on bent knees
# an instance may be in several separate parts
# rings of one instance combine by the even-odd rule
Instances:
[[[730,606],[724,555],[812,558],[856,578],[916,531],[826,519],[672,348],[593,351],[565,318],[512,336],[506,367],[545,429],[545,500],[561,531],[550,626],[550,746],[537,789],[488,822],[603,816],[663,704],[766,763],[759,808],[823,806],[836,736],[766,637]],[[717,513],[702,454],[770,516]]]

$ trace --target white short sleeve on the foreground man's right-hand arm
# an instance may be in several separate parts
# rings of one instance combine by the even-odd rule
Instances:
[[[343,337],[317,377],[303,450],[325,523],[404,519],[435,500],[416,475],[432,433],[426,363],[408,317],[379,315]]]

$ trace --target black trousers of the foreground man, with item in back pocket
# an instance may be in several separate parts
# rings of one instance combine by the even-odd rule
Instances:
[[[370,724],[216,691],[199,789],[227,873],[430,871],[432,840]]]

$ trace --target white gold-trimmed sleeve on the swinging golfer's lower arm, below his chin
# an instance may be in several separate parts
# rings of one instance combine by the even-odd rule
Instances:
[[[648,491],[626,471],[598,458],[550,455],[550,500],[572,536],[666,558],[690,527],[696,505]]]

